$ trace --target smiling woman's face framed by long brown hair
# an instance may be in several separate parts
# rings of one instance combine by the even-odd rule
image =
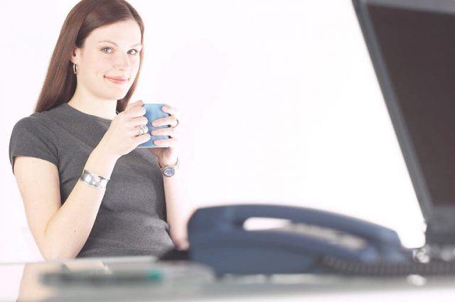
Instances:
[[[77,90],[97,99],[124,98],[137,76],[140,51],[141,30],[134,20],[95,29],[72,57]]]

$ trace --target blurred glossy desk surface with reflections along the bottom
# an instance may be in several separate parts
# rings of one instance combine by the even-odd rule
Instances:
[[[337,301],[375,297],[382,301],[410,296],[414,301],[436,297],[438,301],[453,301],[455,297],[455,276],[368,279],[296,274],[216,278],[207,266],[187,261],[160,262],[152,257],[1,264],[0,278],[0,301],[323,301],[329,297]]]

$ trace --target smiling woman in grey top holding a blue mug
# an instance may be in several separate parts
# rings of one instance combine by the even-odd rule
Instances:
[[[82,0],[60,31],[34,114],[11,134],[9,155],[43,258],[163,254],[187,247],[191,207],[178,173],[178,112],[150,139],[137,85],[144,24],[124,0]],[[142,128],[142,129],[141,129]],[[173,167],[176,173],[161,171]]]

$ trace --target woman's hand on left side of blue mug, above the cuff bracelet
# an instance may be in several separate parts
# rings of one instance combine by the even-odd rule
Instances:
[[[140,144],[149,141],[148,131],[139,136],[139,126],[148,124],[147,118],[144,117],[145,109],[142,104],[144,104],[142,101],[128,104],[123,112],[117,114],[97,148],[103,149],[105,153],[118,159],[136,149]]]

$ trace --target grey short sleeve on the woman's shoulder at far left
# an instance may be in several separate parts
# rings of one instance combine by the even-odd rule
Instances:
[[[14,126],[9,141],[9,161],[14,171],[14,157],[41,158],[58,166],[53,134],[36,118],[26,117]]]

